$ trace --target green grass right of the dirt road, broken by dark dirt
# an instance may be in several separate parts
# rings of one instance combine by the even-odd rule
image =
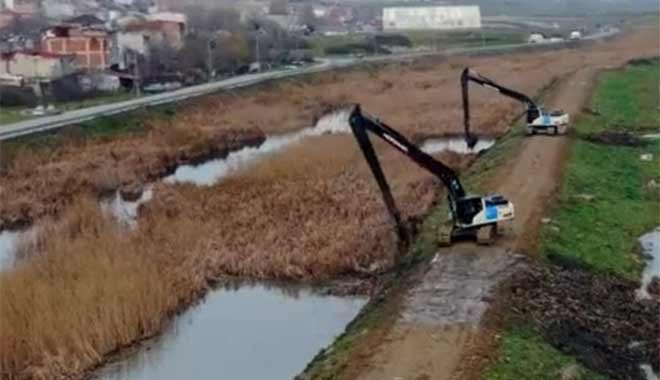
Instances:
[[[578,138],[572,143],[553,220],[541,233],[545,256],[555,254],[595,271],[638,278],[641,263],[633,254],[637,238],[660,222],[657,193],[651,194],[646,186],[660,174],[660,146],[603,145],[582,137],[614,127],[640,132],[647,125],[660,126],[659,69],[655,61],[601,76],[592,104],[599,115],[585,116],[576,124]],[[644,153],[652,153],[653,160],[640,160]],[[483,378],[556,379],[573,364],[575,359],[538,333],[510,324],[503,332],[501,356]],[[575,369],[578,379],[603,378],[580,366]]]

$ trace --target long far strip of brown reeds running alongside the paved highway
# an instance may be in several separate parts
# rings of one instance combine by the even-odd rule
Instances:
[[[0,229],[57,214],[72,195],[98,193],[143,180],[145,172],[134,166],[147,167],[151,173],[166,171],[178,160],[172,159],[175,152],[185,151],[186,145],[193,149],[193,155],[203,156],[227,129],[258,128],[266,133],[296,130],[313,125],[323,112],[337,105],[362,103],[367,112],[416,139],[459,134],[458,78],[463,67],[473,67],[503,84],[534,94],[554,78],[585,64],[618,65],[640,54],[657,55],[656,31],[644,30],[579,51],[427,59],[371,71],[319,74],[306,81],[280,81],[240,96],[207,96],[187,103],[171,119],[149,121],[150,132],[144,137],[70,143],[54,154],[19,155],[0,178]],[[510,116],[521,110],[515,102],[490,91],[474,89],[471,95],[477,134],[500,135],[507,129]]]

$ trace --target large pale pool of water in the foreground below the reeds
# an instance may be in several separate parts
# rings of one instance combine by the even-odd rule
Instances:
[[[97,380],[289,380],[355,318],[365,298],[265,285],[221,288]]]

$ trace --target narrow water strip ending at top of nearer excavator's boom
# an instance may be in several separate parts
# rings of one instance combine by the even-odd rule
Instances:
[[[258,147],[245,147],[229,153],[227,157],[210,160],[200,165],[180,166],[174,174],[166,177],[164,181],[165,183],[188,182],[200,186],[214,185],[220,179],[237,170],[264,156],[281,151],[305,137],[350,132],[349,114],[350,111],[347,110],[331,113],[319,119],[314,127],[292,133],[267,136],[266,141]]]

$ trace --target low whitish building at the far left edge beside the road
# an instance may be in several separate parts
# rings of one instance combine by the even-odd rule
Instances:
[[[0,54],[0,75],[20,76],[29,81],[53,80],[76,71],[75,57],[38,51]]]

